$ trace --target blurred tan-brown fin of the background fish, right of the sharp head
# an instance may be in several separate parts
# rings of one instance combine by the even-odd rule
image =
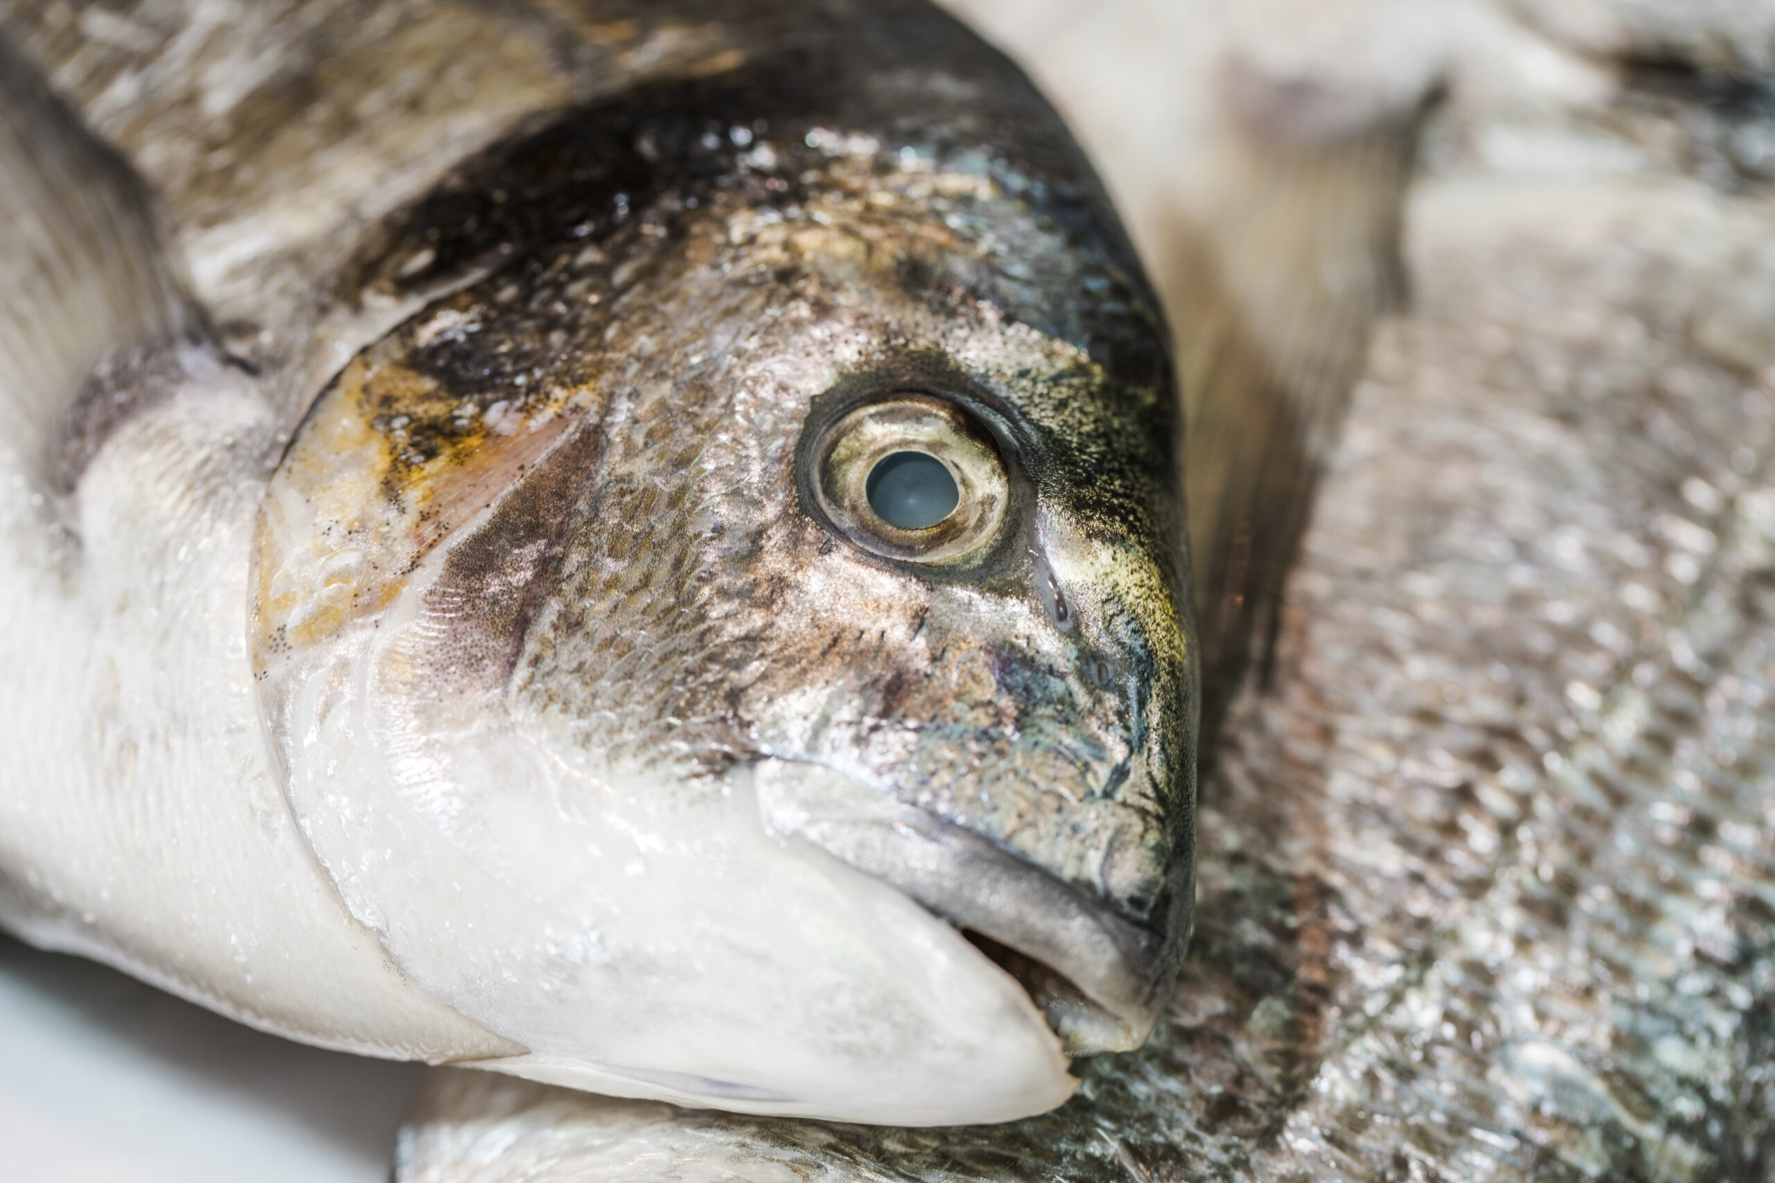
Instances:
[[[1379,85],[1214,71],[1164,296],[1179,333],[1202,628],[1202,752],[1269,651],[1289,568],[1369,339],[1406,296],[1400,218],[1436,74]],[[1255,642],[1255,646],[1253,646]],[[1255,653],[1253,653],[1255,649]]]

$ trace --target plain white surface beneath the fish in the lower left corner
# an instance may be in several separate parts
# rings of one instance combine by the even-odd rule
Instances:
[[[417,1073],[0,936],[5,1183],[385,1183]]]

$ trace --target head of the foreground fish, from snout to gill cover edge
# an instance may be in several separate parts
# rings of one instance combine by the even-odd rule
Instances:
[[[760,92],[564,119],[414,215],[449,241],[532,176],[556,209],[296,431],[272,743],[353,915],[527,1048],[499,1068],[1040,1112],[1067,1052],[1138,1046],[1189,926],[1159,312],[1076,149],[1056,181],[801,92],[731,122]]]

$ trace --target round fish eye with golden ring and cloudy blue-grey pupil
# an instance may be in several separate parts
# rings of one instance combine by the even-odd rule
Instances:
[[[859,406],[813,454],[813,500],[866,552],[960,564],[999,539],[1010,481],[992,436],[960,406],[896,394]]]

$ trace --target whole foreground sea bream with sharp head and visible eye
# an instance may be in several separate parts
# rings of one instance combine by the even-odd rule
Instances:
[[[12,4],[0,922],[266,1030],[1053,1109],[1191,926],[1157,302],[925,4]]]

